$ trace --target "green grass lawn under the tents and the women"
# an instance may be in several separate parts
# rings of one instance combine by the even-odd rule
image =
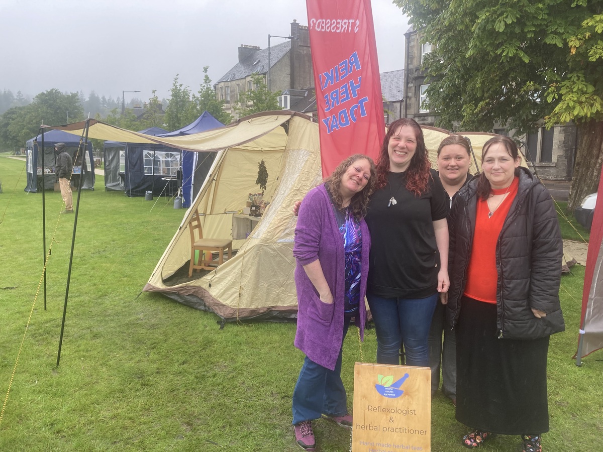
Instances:
[[[291,428],[291,395],[303,360],[292,345],[295,324],[229,323],[219,330],[212,313],[140,293],[184,214],[169,198],[105,192],[98,176],[96,190],[81,193],[56,366],[75,216],[59,216],[60,193],[45,193],[52,248],[44,309],[42,193],[24,192],[24,166],[0,155],[0,451],[300,450]],[[551,337],[546,452],[601,448],[602,354],[593,353],[580,368],[572,360],[583,280],[579,265],[562,280],[567,330]],[[362,351],[374,362],[374,330]],[[342,371],[350,409],[359,360],[352,328]],[[349,432],[334,424],[317,421],[315,433],[321,451],[349,448]],[[466,450],[459,444],[464,433],[438,392],[432,450]],[[519,438],[499,436],[482,449],[518,447]]]

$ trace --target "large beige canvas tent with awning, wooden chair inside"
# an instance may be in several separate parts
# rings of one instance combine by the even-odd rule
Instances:
[[[55,127],[82,134],[84,122]],[[430,160],[451,132],[422,126]],[[178,149],[219,151],[191,208],[157,263],[144,290],[160,292],[225,320],[292,318],[297,315],[293,258],[295,217],[292,206],[321,181],[318,125],[291,111],[267,111],[241,118],[227,127],[185,137],[160,138],[89,122],[89,137],[127,142],[162,143]],[[468,137],[477,161],[490,133]],[[375,152],[376,154],[376,152]],[[195,212],[206,238],[232,237],[233,216],[256,193],[257,165],[264,160],[268,184],[264,215],[246,240],[233,240],[235,256],[216,270],[188,277],[191,238],[188,224]],[[473,160],[473,159],[472,159]],[[472,162],[471,172],[476,166]]]

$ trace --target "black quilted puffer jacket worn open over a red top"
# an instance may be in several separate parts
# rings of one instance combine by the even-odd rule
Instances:
[[[563,241],[548,190],[524,168],[519,189],[496,245],[497,332],[508,339],[537,339],[565,330],[559,302]],[[450,289],[446,316],[455,325],[467,283],[475,231],[478,178],[455,197],[448,216]],[[531,308],[546,312],[538,319]]]

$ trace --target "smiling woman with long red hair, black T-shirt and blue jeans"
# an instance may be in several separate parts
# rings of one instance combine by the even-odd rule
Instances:
[[[377,363],[429,366],[428,334],[438,292],[448,290],[449,205],[414,119],[388,128],[376,190],[365,218],[371,234],[367,299]]]

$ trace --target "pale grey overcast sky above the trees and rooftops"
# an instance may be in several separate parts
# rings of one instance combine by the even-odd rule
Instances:
[[[379,71],[404,67],[408,18],[372,0]],[[169,98],[176,74],[197,92],[203,66],[215,83],[241,44],[268,46],[308,25],[305,0],[0,0],[0,90],[31,97],[57,88],[148,100]],[[271,39],[271,45],[283,42]]]

